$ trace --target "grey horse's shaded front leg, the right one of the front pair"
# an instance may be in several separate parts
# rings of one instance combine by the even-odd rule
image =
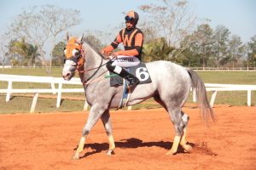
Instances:
[[[101,119],[102,119],[102,123],[105,127],[105,131],[108,135],[109,148],[108,148],[107,155],[111,156],[113,154],[115,144],[114,144],[113,135],[112,135],[112,123],[110,120],[109,110],[104,112]]]

